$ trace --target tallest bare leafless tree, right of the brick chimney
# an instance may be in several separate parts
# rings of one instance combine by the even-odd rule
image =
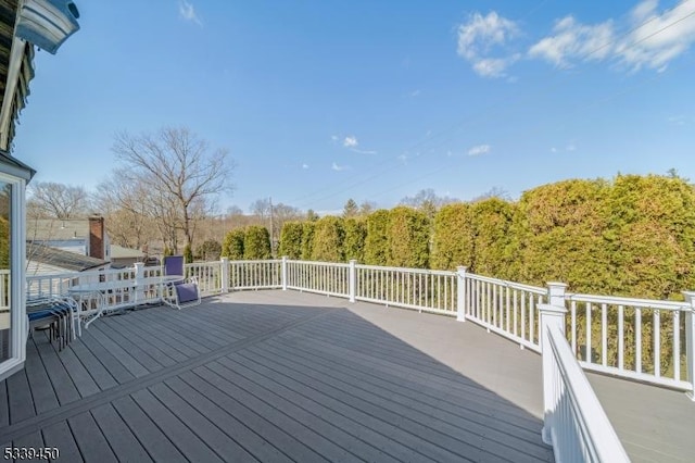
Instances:
[[[178,252],[178,234],[192,246],[195,222],[216,196],[230,192],[233,163],[225,149],[211,151],[207,142],[186,127],[162,128],[155,135],[119,133],[113,151],[123,164],[124,180],[147,186],[152,216],[165,242]]]

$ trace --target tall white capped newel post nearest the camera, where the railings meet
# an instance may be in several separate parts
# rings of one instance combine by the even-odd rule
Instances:
[[[564,283],[548,283],[548,298],[547,304],[539,304],[539,311],[541,313],[541,352],[543,361],[543,441],[547,445],[553,445],[551,431],[553,429],[553,413],[555,412],[555,403],[557,393],[555,390],[555,372],[557,367],[553,352],[551,352],[548,340],[548,327],[554,325],[565,334],[565,315],[567,309],[565,308],[565,288],[567,285]],[[547,347],[547,351],[545,350]]]

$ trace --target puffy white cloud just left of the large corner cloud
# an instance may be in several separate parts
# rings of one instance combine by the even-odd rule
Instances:
[[[518,55],[491,57],[490,53],[493,49],[504,49],[518,33],[519,28],[514,21],[502,17],[494,11],[486,16],[473,13],[468,22],[458,26],[458,55],[483,77],[505,76],[505,70]]]

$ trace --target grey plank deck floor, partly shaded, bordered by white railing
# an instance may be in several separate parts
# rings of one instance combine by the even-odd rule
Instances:
[[[37,333],[27,349],[25,370],[0,383],[2,449],[100,463],[553,460],[540,356],[443,316],[247,291],[105,317],[60,353]],[[634,461],[694,454],[695,439],[661,448],[668,427],[633,425],[650,411],[627,391],[644,386],[592,381],[620,396],[606,409]],[[695,411],[652,389],[665,416],[680,399]]]

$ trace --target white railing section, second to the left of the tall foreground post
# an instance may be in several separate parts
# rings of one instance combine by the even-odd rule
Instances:
[[[456,273],[355,265],[354,299],[420,312],[456,315]]]

